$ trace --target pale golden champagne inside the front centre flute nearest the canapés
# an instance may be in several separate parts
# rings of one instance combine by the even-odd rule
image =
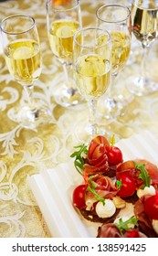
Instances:
[[[75,75],[80,93],[85,98],[98,98],[110,85],[109,60],[95,54],[81,56],[75,65]]]

